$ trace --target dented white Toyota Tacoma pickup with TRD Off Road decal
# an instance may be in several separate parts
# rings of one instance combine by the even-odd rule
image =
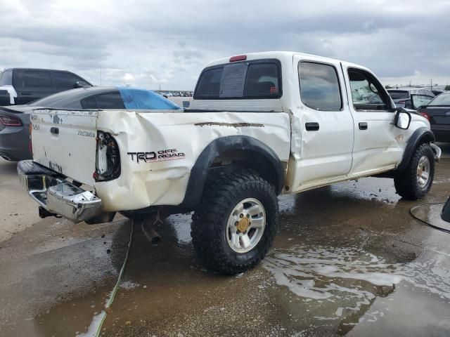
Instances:
[[[179,111],[39,110],[20,180],[41,216],[110,221],[194,211],[193,245],[226,274],[264,258],[278,194],[366,176],[428,193],[439,147],[375,75],[292,52],[216,60]]]

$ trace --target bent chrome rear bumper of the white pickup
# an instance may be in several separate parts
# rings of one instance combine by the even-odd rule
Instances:
[[[68,218],[74,223],[101,216],[101,199],[92,192],[72,185],[65,177],[36,164],[32,160],[19,161],[20,183],[39,206],[50,213]]]

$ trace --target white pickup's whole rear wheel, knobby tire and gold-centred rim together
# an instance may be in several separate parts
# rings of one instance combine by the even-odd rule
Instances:
[[[259,263],[274,242],[274,187],[251,173],[231,173],[207,188],[193,214],[191,237],[208,267],[227,275]]]

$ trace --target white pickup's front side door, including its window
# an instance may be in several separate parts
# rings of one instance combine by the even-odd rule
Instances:
[[[367,176],[393,169],[401,161],[399,143],[404,131],[394,126],[392,100],[368,70],[342,62],[347,80],[350,110],[354,120],[352,171],[349,176]]]

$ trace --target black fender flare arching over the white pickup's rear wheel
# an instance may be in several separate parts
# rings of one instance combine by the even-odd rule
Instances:
[[[208,171],[214,158],[229,150],[248,150],[262,154],[269,161],[276,175],[276,193],[279,194],[284,185],[284,169],[278,155],[262,141],[250,136],[226,136],[213,140],[203,149],[197,161],[191,169],[191,176],[188,180],[188,187],[184,200],[180,206],[191,209],[200,202],[205,187]]]

